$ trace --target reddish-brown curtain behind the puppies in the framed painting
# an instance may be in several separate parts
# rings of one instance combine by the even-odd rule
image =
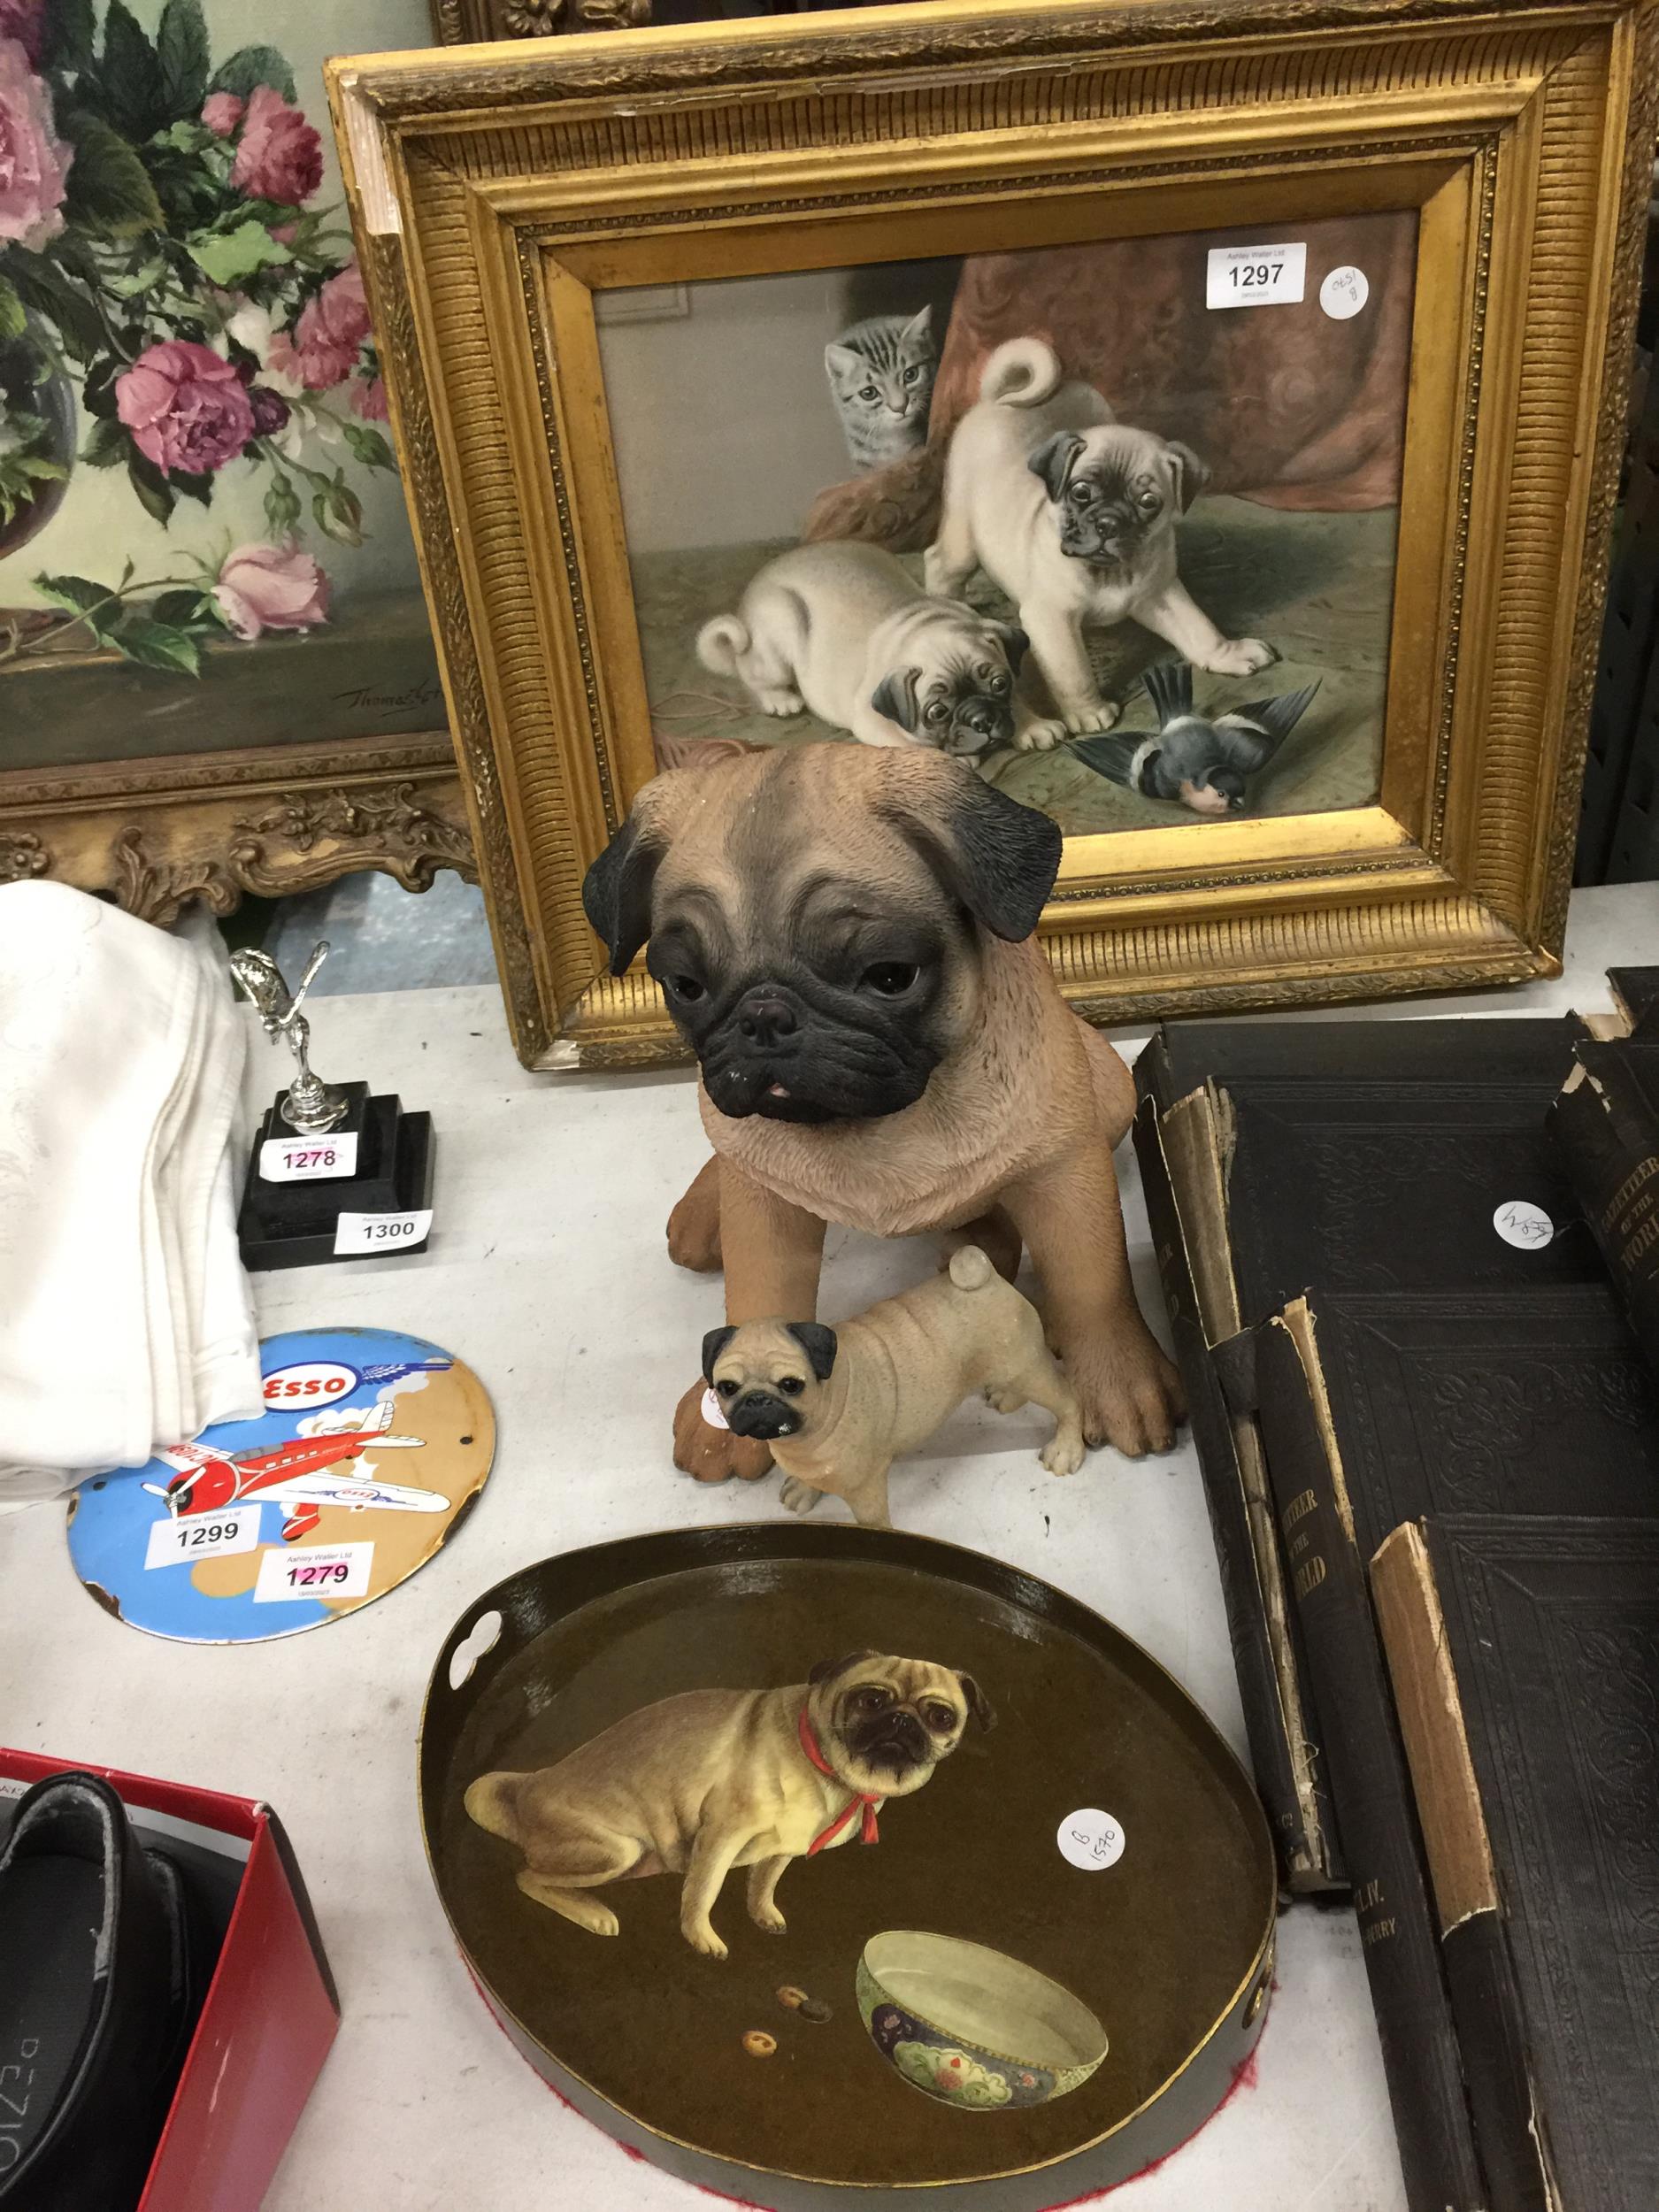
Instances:
[[[933,387],[929,442],[889,469],[825,491],[807,538],[867,538],[898,553],[929,544],[945,447],[1004,338],[1046,338],[1068,376],[1124,422],[1181,438],[1210,465],[1210,491],[1263,507],[1338,513],[1400,495],[1411,285],[1411,212],[1256,230],[1113,239],[975,254],[962,265]],[[1298,305],[1210,310],[1212,246],[1307,241]],[[1325,274],[1354,265],[1369,299],[1349,321],[1318,305]]]

